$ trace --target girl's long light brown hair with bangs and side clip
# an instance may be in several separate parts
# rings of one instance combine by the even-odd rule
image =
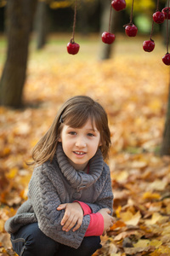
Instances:
[[[63,124],[73,128],[81,128],[88,119],[91,119],[92,125],[96,125],[100,133],[102,145],[99,148],[104,159],[107,158],[111,146],[111,132],[105,109],[88,96],[73,96],[59,109],[53,124],[33,148],[33,162],[31,164],[40,166],[45,161],[54,159]]]

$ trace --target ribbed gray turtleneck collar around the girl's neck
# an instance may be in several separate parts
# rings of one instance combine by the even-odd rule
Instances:
[[[89,173],[76,171],[69,163],[63,152],[62,144],[59,143],[56,152],[59,168],[71,186],[77,190],[88,188],[95,183],[103,170],[104,160],[101,151],[98,150],[94,157],[89,160]]]

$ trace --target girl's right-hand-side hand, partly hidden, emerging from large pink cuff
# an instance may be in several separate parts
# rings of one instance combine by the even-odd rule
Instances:
[[[114,223],[114,218],[110,215],[111,211],[108,208],[103,208],[99,210],[99,213],[101,213],[101,215],[104,218],[104,231],[102,236],[105,236],[106,231],[109,231],[111,226]]]

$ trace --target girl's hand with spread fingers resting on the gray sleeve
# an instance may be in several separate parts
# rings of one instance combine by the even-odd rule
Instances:
[[[61,204],[57,210],[65,210],[64,217],[61,219],[60,224],[63,226],[62,230],[68,232],[74,227],[73,232],[78,230],[82,224],[83,211],[78,202]]]

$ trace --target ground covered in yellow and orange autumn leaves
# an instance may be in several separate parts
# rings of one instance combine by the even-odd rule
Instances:
[[[110,60],[99,61],[98,36],[77,37],[78,55],[68,55],[70,35],[49,38],[41,51],[31,43],[25,107],[0,108],[0,255],[14,255],[3,226],[26,200],[31,149],[68,97],[88,95],[105,107],[111,127],[112,187],[116,222],[95,255],[170,255],[170,158],[159,157],[169,67],[166,47],[145,53],[148,38],[117,36]],[[2,40],[4,40],[2,38]],[[0,72],[5,44],[0,45]]]

